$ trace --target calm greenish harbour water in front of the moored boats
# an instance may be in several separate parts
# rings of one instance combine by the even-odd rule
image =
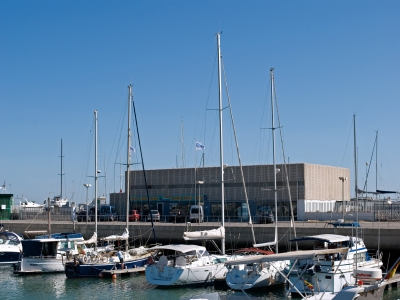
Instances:
[[[83,278],[67,279],[62,274],[15,276],[11,266],[0,266],[2,292],[0,299],[150,299],[170,300],[188,298],[194,295],[218,292],[224,298],[243,293],[204,288],[155,288],[147,283],[144,275],[117,279]],[[284,288],[259,290],[249,293],[259,299],[283,300]],[[245,299],[245,298],[243,298]],[[399,300],[400,289],[385,292],[385,300]]]

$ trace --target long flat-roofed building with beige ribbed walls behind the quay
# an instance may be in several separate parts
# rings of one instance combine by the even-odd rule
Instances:
[[[304,220],[306,212],[338,211],[338,203],[341,207],[342,200],[350,199],[349,169],[306,163],[287,164],[286,167],[287,172],[284,165],[277,165],[280,219],[289,219],[290,199],[298,220]],[[225,218],[246,221],[249,212],[240,167],[227,166],[224,170]],[[273,165],[243,166],[243,174],[250,212],[257,222],[257,216],[263,210],[275,211]],[[342,181],[339,177],[347,180]],[[131,171],[130,209],[137,209],[142,214],[149,209],[158,209],[161,215],[167,216],[171,210],[188,210],[190,205],[200,203],[204,206],[206,219],[220,219],[222,196],[219,167],[146,170],[146,180],[147,190],[143,171]],[[120,215],[126,215],[125,193],[111,194],[110,204],[117,208]]]

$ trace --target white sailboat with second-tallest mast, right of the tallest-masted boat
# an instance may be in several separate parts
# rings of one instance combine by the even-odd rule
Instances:
[[[261,251],[259,247],[275,245],[276,253],[278,253],[278,216],[277,216],[277,184],[276,184],[276,163],[275,163],[275,124],[274,124],[274,69],[270,70],[271,76],[271,107],[272,107],[272,151],[274,166],[274,196],[275,196],[275,239],[273,242],[254,244],[256,248],[249,249],[250,257],[254,258],[249,263],[248,258],[231,261],[228,264],[228,273],[226,274],[227,285],[235,290],[248,290],[253,288],[261,288],[268,286],[280,285],[285,282],[285,278],[279,275],[288,264],[288,260],[275,260],[269,262],[261,262],[258,258],[264,255],[266,251]],[[251,250],[251,251],[250,251]],[[273,253],[273,252],[270,252]]]

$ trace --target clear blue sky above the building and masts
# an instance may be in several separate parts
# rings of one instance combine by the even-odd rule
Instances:
[[[118,191],[129,84],[147,169],[183,164],[181,120],[185,165],[199,164],[196,140],[205,164],[218,165],[222,31],[243,164],[272,163],[261,128],[270,127],[275,67],[290,162],[350,168],[354,190],[356,115],[359,182],[378,131],[378,188],[400,190],[399,14],[398,1],[1,1],[0,183],[36,202],[59,194],[63,139],[63,194],[84,202],[98,110],[99,194]],[[229,123],[224,110],[225,162],[237,165]],[[375,178],[373,158],[369,189]]]

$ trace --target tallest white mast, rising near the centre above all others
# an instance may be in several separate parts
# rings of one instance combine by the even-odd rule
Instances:
[[[218,96],[219,96],[219,144],[220,144],[220,168],[221,168],[221,211],[222,227],[225,227],[225,191],[224,191],[224,146],[222,136],[222,83],[221,83],[221,33],[217,33],[217,51],[218,51]],[[221,251],[225,254],[225,237],[221,240]]]

